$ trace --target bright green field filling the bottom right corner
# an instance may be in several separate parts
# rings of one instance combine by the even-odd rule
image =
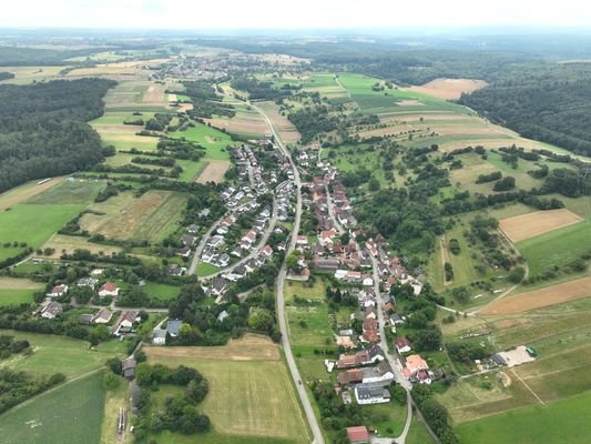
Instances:
[[[580,444],[591,436],[591,392],[459,425],[463,444]]]

